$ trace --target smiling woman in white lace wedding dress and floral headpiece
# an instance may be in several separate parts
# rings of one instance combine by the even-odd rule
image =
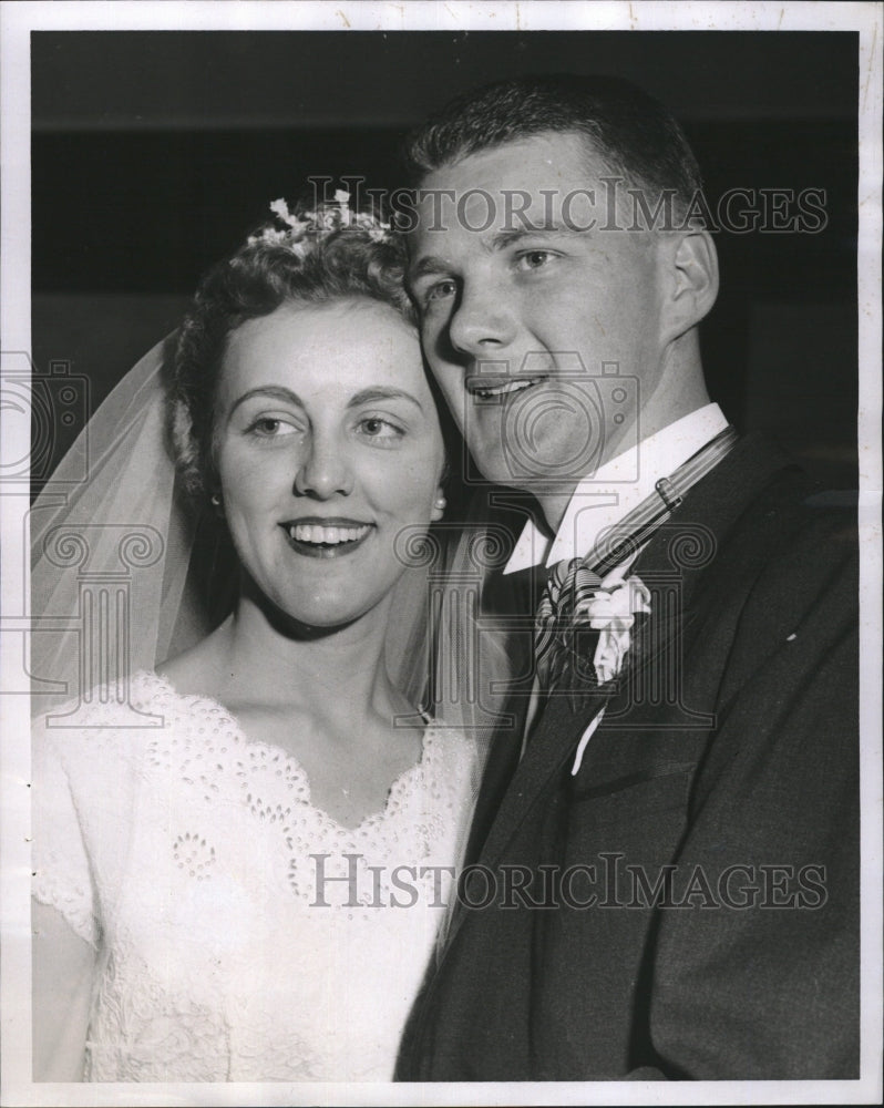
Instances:
[[[439,414],[383,225],[276,211],[168,386],[233,611],[34,727],[38,1080],[388,1080],[443,924],[475,748],[384,649],[401,536],[445,507]]]

